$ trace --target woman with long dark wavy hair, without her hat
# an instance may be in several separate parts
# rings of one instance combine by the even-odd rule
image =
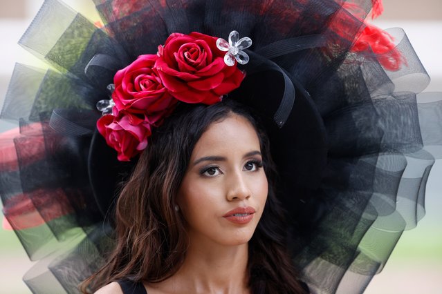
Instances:
[[[304,293],[286,252],[268,147],[232,99],[176,110],[122,189],[118,244],[89,282],[129,278],[147,293]]]

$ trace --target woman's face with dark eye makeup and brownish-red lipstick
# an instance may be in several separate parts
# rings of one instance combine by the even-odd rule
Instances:
[[[239,115],[211,124],[196,142],[178,191],[190,242],[245,244],[255,232],[267,193],[252,124]]]

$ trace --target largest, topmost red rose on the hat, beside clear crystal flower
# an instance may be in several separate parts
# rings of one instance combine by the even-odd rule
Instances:
[[[224,63],[217,37],[174,33],[158,48],[155,70],[169,92],[186,103],[214,104],[239,87],[245,75]]]

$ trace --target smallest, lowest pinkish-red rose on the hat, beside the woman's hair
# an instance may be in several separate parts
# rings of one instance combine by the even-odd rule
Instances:
[[[118,160],[129,161],[147,147],[151,124],[147,120],[125,110],[118,116],[104,115],[97,121],[100,134],[106,143],[118,153]]]

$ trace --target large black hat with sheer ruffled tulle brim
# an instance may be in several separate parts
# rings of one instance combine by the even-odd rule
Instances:
[[[212,91],[207,104],[236,99],[264,121],[300,278],[313,293],[362,292],[403,231],[423,217],[425,184],[442,155],[442,95],[422,93],[430,79],[402,30],[365,21],[372,8],[381,12],[380,1],[94,3],[100,23],[44,2],[20,43],[51,68],[17,64],[1,112],[19,121],[1,137],[0,194],[8,222],[39,260],[24,277],[33,293],[77,293],[113,246],[116,187],[144,138],[175,104],[205,103],[185,101],[181,88],[156,88],[161,99],[179,102],[160,108],[159,120],[139,120],[144,104],[125,100],[141,109],[125,116],[128,126],[144,130],[131,133],[141,138],[131,153],[97,130],[97,121],[101,128],[118,123],[120,112],[109,113],[118,70],[141,55],[161,55],[176,32],[225,40],[217,55],[241,72],[235,86],[223,92],[211,80],[195,87]],[[251,46],[235,45],[234,31]],[[148,74],[167,88],[155,66]]]

